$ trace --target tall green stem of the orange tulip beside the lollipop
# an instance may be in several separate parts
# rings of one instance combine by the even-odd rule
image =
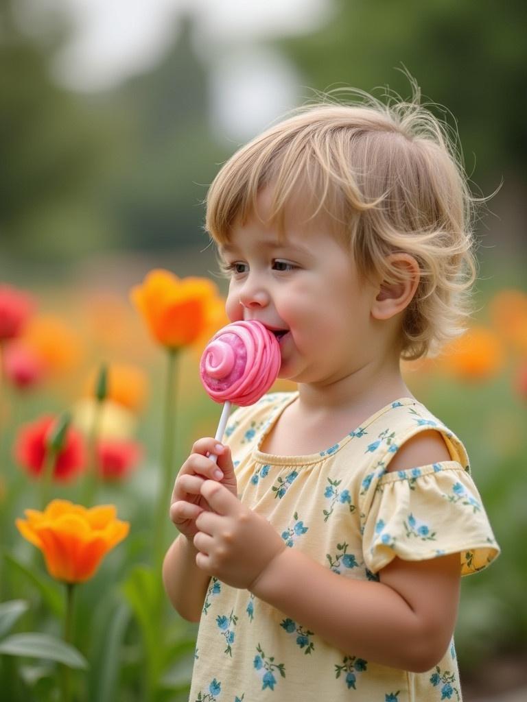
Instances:
[[[177,349],[168,350],[167,385],[164,397],[164,426],[163,426],[163,453],[162,453],[162,479],[160,480],[159,494],[157,497],[157,510],[155,514],[154,553],[155,571],[160,572],[164,558],[165,537],[169,521],[170,496],[174,483],[174,450],[176,446],[176,366]]]

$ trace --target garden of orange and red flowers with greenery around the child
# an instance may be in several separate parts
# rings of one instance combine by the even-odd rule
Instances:
[[[527,294],[493,292],[485,310],[441,357],[403,366],[464,440],[502,548],[463,582],[462,673],[527,640]],[[0,282],[3,699],[187,699],[197,628],[160,570],[178,466],[219,417],[197,364],[226,321],[211,280],[166,270],[129,296]]]

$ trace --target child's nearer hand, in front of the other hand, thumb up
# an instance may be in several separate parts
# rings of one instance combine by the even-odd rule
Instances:
[[[214,512],[195,520],[197,567],[233,588],[247,588],[286,547],[271,524],[249,510],[225,487],[212,480],[201,486]]]

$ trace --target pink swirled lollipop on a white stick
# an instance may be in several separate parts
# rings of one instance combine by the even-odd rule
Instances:
[[[280,345],[261,322],[233,322],[214,334],[201,358],[200,377],[209,396],[225,403],[216,439],[223,437],[231,404],[254,404],[279,370]]]

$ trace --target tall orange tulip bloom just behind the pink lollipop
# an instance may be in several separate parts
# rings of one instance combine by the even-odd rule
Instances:
[[[207,278],[182,278],[157,269],[131,291],[155,340],[170,348],[194,343],[209,326],[218,300],[216,285]]]

